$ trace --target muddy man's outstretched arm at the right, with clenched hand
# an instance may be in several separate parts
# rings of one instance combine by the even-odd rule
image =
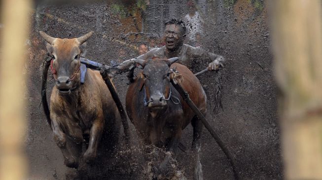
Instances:
[[[220,55],[216,55],[215,53],[211,53],[199,47],[189,46],[189,52],[191,56],[194,58],[200,58],[202,60],[207,60],[210,63],[208,64],[209,70],[216,70],[220,66],[223,66],[224,58]]]

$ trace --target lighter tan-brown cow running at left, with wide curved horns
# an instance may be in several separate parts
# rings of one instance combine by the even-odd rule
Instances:
[[[59,39],[40,31],[53,57],[56,81],[50,97],[53,138],[63,152],[65,164],[73,168],[78,167],[81,157],[87,163],[93,162],[101,139],[102,145],[108,139],[112,143],[106,146],[114,146],[120,130],[120,115],[100,72],[87,69],[85,82],[80,84],[79,58],[85,56],[85,41],[92,33]],[[88,148],[82,154],[88,136]]]

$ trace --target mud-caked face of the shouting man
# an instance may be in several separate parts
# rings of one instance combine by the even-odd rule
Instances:
[[[179,49],[183,44],[182,28],[179,25],[167,25],[164,30],[164,42],[170,51]]]

